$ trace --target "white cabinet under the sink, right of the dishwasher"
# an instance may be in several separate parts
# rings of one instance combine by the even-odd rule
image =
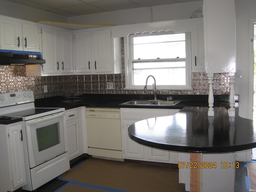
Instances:
[[[128,136],[131,124],[148,118],[174,115],[178,111],[179,109],[121,108],[123,158],[178,164],[178,152],[144,146]]]

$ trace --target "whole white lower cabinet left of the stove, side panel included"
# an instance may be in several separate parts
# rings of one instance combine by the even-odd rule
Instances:
[[[14,191],[26,184],[24,122],[0,125],[0,191]],[[24,143],[25,142],[25,143]]]

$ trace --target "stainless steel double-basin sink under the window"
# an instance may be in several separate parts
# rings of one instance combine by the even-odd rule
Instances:
[[[163,101],[163,100],[131,100],[124,102],[121,105],[128,106],[175,106],[180,103],[180,100]]]

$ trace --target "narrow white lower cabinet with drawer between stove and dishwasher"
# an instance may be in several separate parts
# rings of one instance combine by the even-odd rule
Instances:
[[[68,155],[72,160],[81,154],[84,154],[84,138],[83,138],[83,107],[66,110],[67,138],[68,138]]]

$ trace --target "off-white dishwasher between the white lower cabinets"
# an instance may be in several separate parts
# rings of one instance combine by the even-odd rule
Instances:
[[[88,154],[122,159],[120,109],[86,108]]]

